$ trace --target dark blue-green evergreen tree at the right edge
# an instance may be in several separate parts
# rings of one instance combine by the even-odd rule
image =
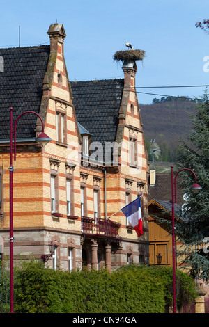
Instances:
[[[190,273],[203,280],[209,278],[209,100],[207,92],[196,104],[196,113],[192,115],[194,130],[187,142],[180,141],[178,153],[178,170],[192,169],[197,183],[202,187],[199,193],[192,193],[194,175],[183,170],[178,175],[180,185],[185,193],[183,205],[183,223],[176,223],[176,235],[187,246],[180,253],[185,255]],[[205,246],[204,246],[205,245]],[[201,250],[200,250],[201,247]]]

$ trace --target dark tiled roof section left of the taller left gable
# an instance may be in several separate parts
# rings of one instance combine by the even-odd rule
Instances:
[[[49,52],[49,45],[0,49],[4,63],[4,71],[0,72],[0,139],[9,138],[10,106],[13,124],[24,111],[39,112]],[[36,120],[36,115],[23,115],[17,122],[17,138],[34,137]]]

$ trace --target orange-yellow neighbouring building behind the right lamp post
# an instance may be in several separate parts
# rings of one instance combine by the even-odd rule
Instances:
[[[161,264],[172,266],[172,236],[171,230],[166,223],[159,223],[158,218],[171,221],[172,191],[171,173],[156,173],[150,170],[148,191],[148,221],[149,221],[149,253],[150,264],[157,263],[157,255],[161,255]],[[177,203],[174,204],[175,221],[180,221],[180,209],[184,203],[183,191],[178,187],[176,193]],[[176,241],[179,249],[180,241]],[[176,266],[180,258],[176,258]]]

